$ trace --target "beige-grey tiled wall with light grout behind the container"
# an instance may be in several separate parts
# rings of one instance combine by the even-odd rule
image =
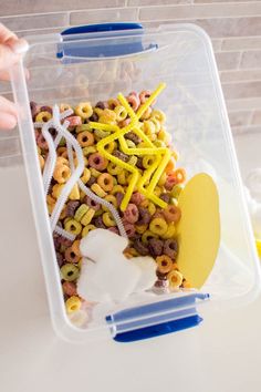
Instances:
[[[19,35],[107,21],[202,27],[212,39],[233,132],[261,132],[261,0],[0,0],[0,22]]]

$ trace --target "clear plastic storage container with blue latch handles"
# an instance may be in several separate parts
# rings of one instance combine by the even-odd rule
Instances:
[[[201,320],[196,303],[208,303],[207,317],[210,311],[252,301],[260,286],[259,260],[209,38],[192,24],[146,31],[135,24],[123,28],[100,25],[97,32],[88,27],[86,32],[83,27],[63,35],[30,37],[29,51],[12,69],[51,317],[58,334],[71,341],[100,337],[129,341],[191,327]],[[30,72],[28,81],[23,65]],[[119,76],[123,69],[124,76]],[[86,96],[95,102],[118,92],[154,90],[161,81],[167,87],[158,107],[166,113],[181,165],[189,177],[209,173],[218,187],[221,246],[215,268],[201,293],[158,296],[150,303],[127,301],[121,308],[105,309],[94,328],[79,329],[65,314],[29,102],[73,104]]]

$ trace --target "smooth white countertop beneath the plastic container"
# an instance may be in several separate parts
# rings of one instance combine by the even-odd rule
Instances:
[[[236,141],[246,162],[243,176],[261,163],[261,136],[254,137],[255,155],[248,137]],[[247,308],[208,314],[191,330],[143,342],[74,345],[59,340],[50,322],[24,171],[0,169],[0,179],[1,391],[261,390],[261,298]]]

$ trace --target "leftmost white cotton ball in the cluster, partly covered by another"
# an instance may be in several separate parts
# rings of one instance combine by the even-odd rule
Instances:
[[[108,292],[96,285],[95,274],[97,266],[87,259],[83,259],[81,275],[77,280],[77,293],[86,301],[106,302],[111,300]]]

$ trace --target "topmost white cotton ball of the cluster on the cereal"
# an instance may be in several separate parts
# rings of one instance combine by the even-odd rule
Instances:
[[[83,256],[95,261],[105,260],[108,250],[111,252],[123,252],[127,247],[128,240],[117,234],[106,229],[95,229],[81,239],[80,250]]]

